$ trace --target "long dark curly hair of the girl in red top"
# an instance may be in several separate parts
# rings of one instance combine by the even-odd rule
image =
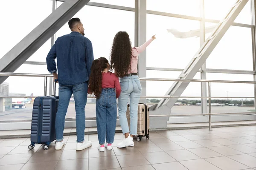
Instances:
[[[93,61],[88,91],[90,93],[93,93],[96,98],[99,98],[102,92],[102,71],[104,71],[105,68],[108,67],[108,59],[106,59],[105,57],[99,57],[99,59],[95,59]]]

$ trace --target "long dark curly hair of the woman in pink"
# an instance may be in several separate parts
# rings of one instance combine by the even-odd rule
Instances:
[[[124,77],[131,71],[131,40],[125,31],[119,31],[114,40],[110,56],[111,71],[115,70],[118,77]]]

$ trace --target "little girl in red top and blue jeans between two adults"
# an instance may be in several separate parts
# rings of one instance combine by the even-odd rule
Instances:
[[[119,79],[109,72],[108,59],[100,57],[93,61],[90,74],[89,94],[96,96],[96,122],[99,151],[112,149],[116,131],[116,98],[121,93]],[[107,140],[106,140],[107,136]]]

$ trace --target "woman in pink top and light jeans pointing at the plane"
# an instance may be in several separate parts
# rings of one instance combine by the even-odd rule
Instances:
[[[111,49],[111,70],[120,78],[121,94],[118,98],[118,114],[125,138],[117,147],[134,146],[133,136],[137,135],[138,104],[142,91],[138,77],[138,56],[155,39],[154,36],[140,47],[131,47],[129,35],[119,31]],[[130,130],[126,118],[127,102],[130,97]]]

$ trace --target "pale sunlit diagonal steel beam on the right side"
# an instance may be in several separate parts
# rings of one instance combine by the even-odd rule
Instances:
[[[230,11],[224,20],[220,21],[218,25],[215,27],[212,32],[212,36],[210,36],[201,48],[197,51],[195,56],[186,66],[186,68],[182,71],[178,78],[180,79],[193,79],[195,74],[201,68],[201,66],[206,62],[207,57],[211,54],[213,49],[216,47],[218,42],[227,32],[228,28],[232,25],[233,21],[239,15],[241,10],[244,8],[248,0],[237,0],[236,3],[232,6]],[[189,85],[189,82],[174,82],[172,87],[167,91],[165,96],[180,96],[186,87]],[[159,109],[162,106],[165,108],[172,109],[172,106],[175,104],[177,99],[162,99],[158,104],[155,110]],[[161,109],[163,110],[163,108]]]

